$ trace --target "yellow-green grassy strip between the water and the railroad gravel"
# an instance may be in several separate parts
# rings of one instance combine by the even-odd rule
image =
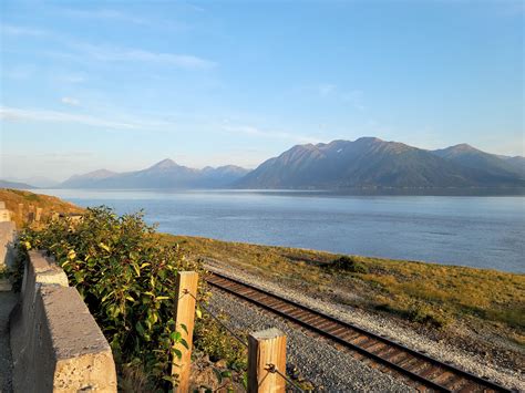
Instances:
[[[194,257],[212,258],[338,302],[446,330],[490,324],[525,344],[525,275],[162,235]]]

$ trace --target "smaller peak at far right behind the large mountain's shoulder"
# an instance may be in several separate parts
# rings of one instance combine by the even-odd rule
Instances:
[[[525,158],[523,157],[498,156],[478,151],[467,144],[455,145],[432,153],[456,164],[482,169],[493,175],[525,178]],[[519,163],[522,163],[521,167]]]

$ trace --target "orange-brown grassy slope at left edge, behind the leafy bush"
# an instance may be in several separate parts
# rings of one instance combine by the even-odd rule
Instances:
[[[28,214],[39,207],[42,208],[42,220],[49,218],[53,213],[76,214],[83,210],[81,207],[56,197],[10,188],[0,188],[0,200],[4,201],[6,207],[12,211],[12,220],[17,223],[18,228],[27,224]],[[20,204],[23,205],[21,215]]]

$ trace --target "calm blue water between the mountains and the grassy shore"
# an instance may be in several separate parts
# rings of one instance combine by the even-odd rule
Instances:
[[[169,234],[525,272],[525,197],[68,190]]]

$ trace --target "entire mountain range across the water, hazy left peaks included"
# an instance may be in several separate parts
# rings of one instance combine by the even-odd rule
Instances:
[[[22,188],[29,188],[30,186]],[[0,187],[2,183],[0,183]],[[172,159],[142,169],[74,175],[60,188],[525,189],[525,158],[467,144],[436,151],[375,137],[296,145],[254,170],[189,168]],[[11,187],[20,188],[20,187]]]

